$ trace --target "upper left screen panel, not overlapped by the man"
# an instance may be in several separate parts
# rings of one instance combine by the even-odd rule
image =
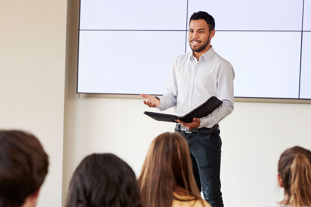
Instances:
[[[187,0],[81,0],[80,29],[186,30]]]

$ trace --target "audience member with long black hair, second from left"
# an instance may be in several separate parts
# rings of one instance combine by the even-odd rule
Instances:
[[[142,207],[135,173],[116,155],[88,155],[73,173],[65,206]]]

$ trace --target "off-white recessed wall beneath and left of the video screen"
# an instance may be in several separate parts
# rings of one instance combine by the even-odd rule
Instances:
[[[64,195],[81,159],[93,152],[120,156],[139,175],[147,149],[173,123],[142,114],[150,109],[141,99],[84,98],[76,94],[78,4],[69,3],[64,126]],[[174,113],[172,109],[165,113]],[[263,206],[282,199],[276,164],[290,146],[311,148],[310,104],[235,102],[233,113],[220,122],[221,181],[226,206]]]

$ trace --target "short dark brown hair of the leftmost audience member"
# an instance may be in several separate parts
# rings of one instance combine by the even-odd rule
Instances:
[[[34,135],[0,130],[0,207],[21,206],[39,190],[48,165],[48,155]]]

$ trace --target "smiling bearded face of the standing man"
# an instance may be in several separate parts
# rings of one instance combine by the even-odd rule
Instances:
[[[205,20],[191,20],[188,40],[193,52],[201,52],[210,42],[210,32]]]

